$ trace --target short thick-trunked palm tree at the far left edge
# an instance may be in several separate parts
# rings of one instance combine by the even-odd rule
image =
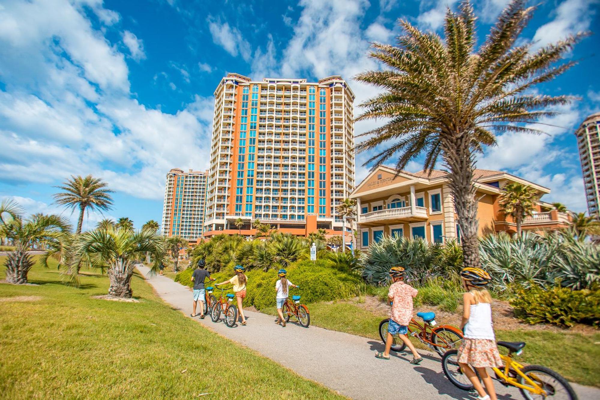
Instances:
[[[50,243],[60,235],[70,232],[72,226],[67,219],[57,215],[35,214],[23,219],[25,210],[13,200],[0,203],[0,238],[14,243],[4,263],[8,283],[27,283],[27,274],[35,262],[28,253],[35,243]]]

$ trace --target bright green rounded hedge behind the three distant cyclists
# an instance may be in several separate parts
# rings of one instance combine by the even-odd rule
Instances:
[[[359,277],[339,271],[334,267],[333,262],[325,259],[296,261],[286,269],[287,279],[300,286],[299,289],[290,288],[290,294],[301,295],[302,303],[326,302],[350,297],[355,295],[356,286],[360,282]],[[193,268],[179,272],[175,281],[182,285],[193,286],[190,280],[192,272]],[[217,279],[217,282],[223,282],[233,275],[233,268],[230,268],[211,276]],[[252,270],[248,271],[246,276],[248,276],[248,283],[244,305],[254,306],[259,310],[275,306],[277,270],[268,272]]]

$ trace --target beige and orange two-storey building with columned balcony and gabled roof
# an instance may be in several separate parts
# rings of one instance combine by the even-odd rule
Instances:
[[[515,232],[515,223],[500,211],[502,187],[518,182],[535,187],[541,195],[547,187],[526,181],[502,171],[476,169],[479,234]],[[358,203],[358,248],[366,249],[384,236],[422,237],[430,243],[460,240],[460,228],[454,211],[454,199],[448,187],[446,172],[434,170],[431,175],[410,173],[380,166],[368,175],[350,195]],[[523,221],[523,229],[544,231],[566,227],[569,216],[538,201],[532,217]]]

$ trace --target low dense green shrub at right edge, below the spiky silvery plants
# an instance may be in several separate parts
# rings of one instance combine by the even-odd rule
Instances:
[[[571,290],[555,286],[519,289],[511,300],[515,314],[530,324],[550,323],[574,326],[577,323],[600,326],[600,291]]]

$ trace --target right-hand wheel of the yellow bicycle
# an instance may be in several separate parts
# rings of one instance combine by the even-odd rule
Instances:
[[[527,365],[521,369],[521,372],[527,375],[530,380],[538,384],[545,392],[544,394],[536,395],[529,390],[519,389],[521,395],[527,400],[547,399],[550,397],[552,399],[577,400],[575,390],[573,390],[566,379],[561,377],[557,372],[552,371],[550,368],[541,365]],[[518,382],[522,385],[529,386],[529,383],[527,383],[525,378],[521,377],[521,375],[518,375]]]

